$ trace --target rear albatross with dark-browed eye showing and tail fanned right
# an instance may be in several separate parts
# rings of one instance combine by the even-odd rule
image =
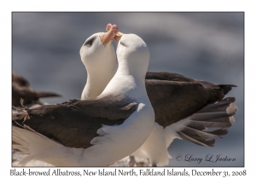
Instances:
[[[107,30],[111,28],[112,25],[108,24]],[[100,95],[118,69],[113,44],[104,48],[99,34],[87,38],[80,50],[81,61],[87,70],[82,100]],[[122,35],[118,32],[114,38],[119,46],[125,46],[123,41],[119,41]],[[90,39],[94,39],[90,46],[85,45]],[[131,66],[133,68],[136,66]],[[125,80],[122,83],[125,84]],[[152,165],[169,163],[167,147],[173,139],[212,147],[215,136],[225,135],[228,132],[226,128],[235,122],[235,98],[224,99],[224,95],[236,85],[211,84],[170,72],[147,72],[145,84],[156,123],[148,140],[132,155],[148,158]]]

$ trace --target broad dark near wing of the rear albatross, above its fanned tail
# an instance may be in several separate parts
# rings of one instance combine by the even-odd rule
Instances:
[[[224,98],[224,90],[218,84],[205,87],[195,82],[146,79],[146,89],[154,107],[155,120],[163,127]]]

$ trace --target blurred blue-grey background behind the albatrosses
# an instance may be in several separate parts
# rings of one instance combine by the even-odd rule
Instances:
[[[189,78],[238,86],[228,94],[236,97],[238,112],[236,123],[224,139],[217,138],[215,147],[175,140],[168,148],[172,155],[169,165],[243,166],[243,13],[13,13],[12,70],[26,78],[35,90],[62,95],[43,102],[79,99],[86,83],[79,49],[91,34],[105,32],[108,23],[119,26],[120,32],[143,38],[151,54],[148,71],[177,72]],[[183,156],[182,161],[176,160],[178,154]],[[213,161],[218,155],[235,161],[205,161],[207,154],[212,155]],[[184,161],[186,155],[202,161]],[[15,165],[19,159],[15,155]]]

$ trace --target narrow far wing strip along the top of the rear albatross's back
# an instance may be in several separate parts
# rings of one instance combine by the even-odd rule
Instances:
[[[233,84],[212,84],[206,81],[187,78],[183,75],[173,73],[173,72],[147,72],[146,79],[158,79],[158,80],[167,80],[167,81],[176,81],[176,82],[191,82],[194,84],[201,84],[206,89],[222,89],[224,91],[224,95],[226,95],[232,87],[236,87]]]

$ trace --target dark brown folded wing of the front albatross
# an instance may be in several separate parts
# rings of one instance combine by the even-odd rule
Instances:
[[[90,147],[102,125],[122,124],[137,109],[135,102],[108,99],[68,101],[63,104],[20,109],[13,114],[13,125],[26,124],[32,130],[66,147]],[[22,110],[24,110],[22,112]]]

